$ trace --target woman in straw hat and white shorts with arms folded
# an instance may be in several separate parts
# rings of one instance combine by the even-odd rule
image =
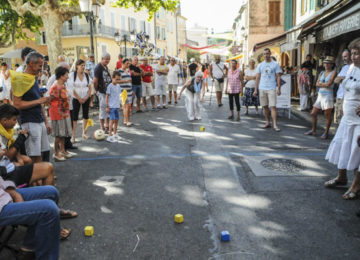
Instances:
[[[319,110],[325,111],[326,128],[325,132],[321,135],[321,139],[327,139],[329,137],[329,129],[331,126],[331,111],[334,107],[334,79],[336,78],[335,59],[332,56],[326,56],[323,61],[325,70],[320,73],[316,86],[319,88],[318,97],[313,105],[312,116],[312,129],[307,131],[305,135],[315,135],[317,114]]]

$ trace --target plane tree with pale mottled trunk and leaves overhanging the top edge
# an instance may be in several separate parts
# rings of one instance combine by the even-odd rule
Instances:
[[[28,12],[41,18],[47,37],[50,68],[55,70],[57,57],[62,54],[62,25],[72,17],[80,15],[79,0],[6,0],[18,15],[25,16]],[[94,0],[93,0],[94,1]],[[96,0],[95,0],[96,1]],[[105,4],[105,0],[98,0]],[[117,0],[113,5],[118,7],[134,7],[136,11],[148,9],[149,18],[163,7],[166,10],[174,11],[178,0]]]

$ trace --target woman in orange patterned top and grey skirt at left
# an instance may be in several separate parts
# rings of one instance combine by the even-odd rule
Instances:
[[[56,82],[50,88],[50,119],[52,133],[55,137],[54,155],[55,161],[65,161],[75,154],[65,150],[65,138],[72,134],[68,93],[65,82],[69,78],[69,70],[64,67],[58,67],[55,70]]]

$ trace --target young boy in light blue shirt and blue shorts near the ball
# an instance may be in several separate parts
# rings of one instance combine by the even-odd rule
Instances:
[[[106,141],[110,143],[115,143],[120,139],[120,136],[117,134],[117,127],[120,119],[120,80],[121,73],[119,71],[114,71],[112,75],[112,83],[110,83],[106,89],[106,112],[110,115],[109,136],[106,138]]]

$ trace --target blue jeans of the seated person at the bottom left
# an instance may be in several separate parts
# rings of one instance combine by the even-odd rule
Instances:
[[[53,186],[18,189],[24,202],[9,203],[0,212],[0,226],[27,225],[23,247],[34,250],[36,259],[59,259],[59,193]]]

